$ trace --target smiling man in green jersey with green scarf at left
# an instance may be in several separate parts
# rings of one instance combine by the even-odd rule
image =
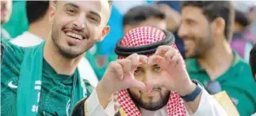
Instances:
[[[92,90],[81,81],[77,64],[108,34],[110,13],[107,0],[57,1],[51,6],[46,42],[19,48],[1,39],[1,115],[71,115],[77,101]]]

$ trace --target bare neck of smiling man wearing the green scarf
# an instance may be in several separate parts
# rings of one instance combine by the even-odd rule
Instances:
[[[55,69],[57,74],[72,75],[74,74],[78,62],[83,58],[83,55],[78,56],[75,59],[68,59],[60,54],[58,48],[52,42],[51,38],[45,42],[44,45],[44,59],[52,68]]]

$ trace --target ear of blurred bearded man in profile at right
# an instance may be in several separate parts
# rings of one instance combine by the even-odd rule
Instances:
[[[225,20],[222,17],[217,17],[212,22],[212,30],[214,35],[225,35]]]

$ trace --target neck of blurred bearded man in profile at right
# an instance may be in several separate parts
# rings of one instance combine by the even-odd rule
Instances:
[[[229,43],[222,42],[208,50],[205,55],[198,58],[198,61],[200,67],[206,70],[213,81],[230,68],[233,57]]]

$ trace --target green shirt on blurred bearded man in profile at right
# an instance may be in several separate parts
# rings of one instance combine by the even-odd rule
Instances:
[[[226,91],[237,106],[240,116],[250,116],[256,112],[256,83],[250,66],[239,55],[233,54],[232,65],[225,73],[219,75],[218,81],[223,91]],[[199,66],[195,58],[185,60],[188,74],[205,87],[211,81],[206,70]]]

